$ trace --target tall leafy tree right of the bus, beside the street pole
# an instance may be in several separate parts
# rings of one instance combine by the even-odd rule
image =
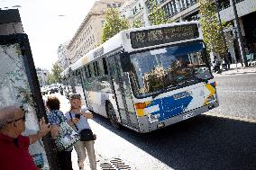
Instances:
[[[221,29],[228,25],[226,25],[225,22],[222,22],[222,25],[218,22],[216,4],[213,4],[211,0],[199,0],[199,4],[200,14],[202,15],[199,22],[202,25],[207,51],[208,53],[213,51],[221,57],[224,57],[227,49]]]

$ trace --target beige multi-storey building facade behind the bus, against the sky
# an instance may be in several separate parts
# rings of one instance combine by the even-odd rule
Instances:
[[[124,0],[99,0],[93,5],[78,31],[67,46],[70,64],[73,64],[89,50],[101,44],[101,32],[105,22],[105,13],[110,7],[120,7]]]

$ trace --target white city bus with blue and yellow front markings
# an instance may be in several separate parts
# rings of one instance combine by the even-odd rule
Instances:
[[[219,105],[198,22],[121,31],[67,68],[91,112],[115,128],[158,130]]]

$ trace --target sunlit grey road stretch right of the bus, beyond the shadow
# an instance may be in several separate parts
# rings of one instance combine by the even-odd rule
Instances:
[[[220,106],[211,113],[256,121],[256,74],[215,76]]]

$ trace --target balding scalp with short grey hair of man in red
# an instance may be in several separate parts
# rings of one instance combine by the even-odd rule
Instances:
[[[9,106],[5,107],[0,110],[0,130],[5,128],[5,125],[8,124],[8,122],[14,120],[14,111],[17,109],[15,106]]]

